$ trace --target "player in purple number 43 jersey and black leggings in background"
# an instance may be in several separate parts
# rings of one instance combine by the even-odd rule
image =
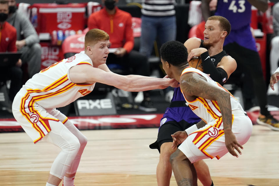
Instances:
[[[210,0],[202,0],[201,8],[205,20],[210,17],[209,2]],[[247,83],[247,86],[252,83],[260,105],[260,116],[257,119],[257,123],[269,126],[272,130],[279,130],[279,121],[273,118],[267,110],[266,83],[255,38],[252,36],[250,29],[251,4],[262,12],[265,12],[268,8],[267,0],[218,0],[215,15],[226,17],[232,26],[231,33],[226,38],[223,49],[236,60],[239,70],[251,76],[251,81],[246,79],[245,83]],[[251,94],[251,90],[244,89],[243,93]],[[250,109],[248,106],[246,101],[245,110]]]

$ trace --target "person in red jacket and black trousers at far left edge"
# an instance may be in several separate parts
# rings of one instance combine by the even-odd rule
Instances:
[[[15,27],[6,22],[9,13],[7,1],[0,1],[0,52],[16,52],[15,42],[17,31]],[[22,70],[20,68],[21,60],[19,59],[13,67],[0,68],[0,81],[6,82],[11,80],[9,98],[13,101],[15,95],[22,86]],[[10,105],[11,106],[11,105]]]

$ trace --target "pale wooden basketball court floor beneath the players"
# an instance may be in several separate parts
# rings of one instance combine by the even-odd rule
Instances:
[[[76,186],[156,186],[158,129],[83,130],[88,138]],[[26,133],[0,133],[0,186],[44,186],[59,153]],[[216,186],[279,186],[279,131],[255,125],[242,155],[205,160]],[[60,184],[62,185],[62,183]],[[171,184],[176,185],[174,176]],[[201,183],[199,183],[201,186]]]

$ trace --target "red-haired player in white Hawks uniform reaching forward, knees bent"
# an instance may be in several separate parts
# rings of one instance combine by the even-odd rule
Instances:
[[[86,137],[55,108],[63,107],[89,94],[96,82],[126,91],[145,91],[178,86],[170,78],[121,76],[105,65],[109,35],[92,29],[85,35],[85,51],[57,62],[35,74],[17,93],[12,105],[15,119],[36,143],[42,139],[62,149],[54,160],[47,186],[73,186]]]

